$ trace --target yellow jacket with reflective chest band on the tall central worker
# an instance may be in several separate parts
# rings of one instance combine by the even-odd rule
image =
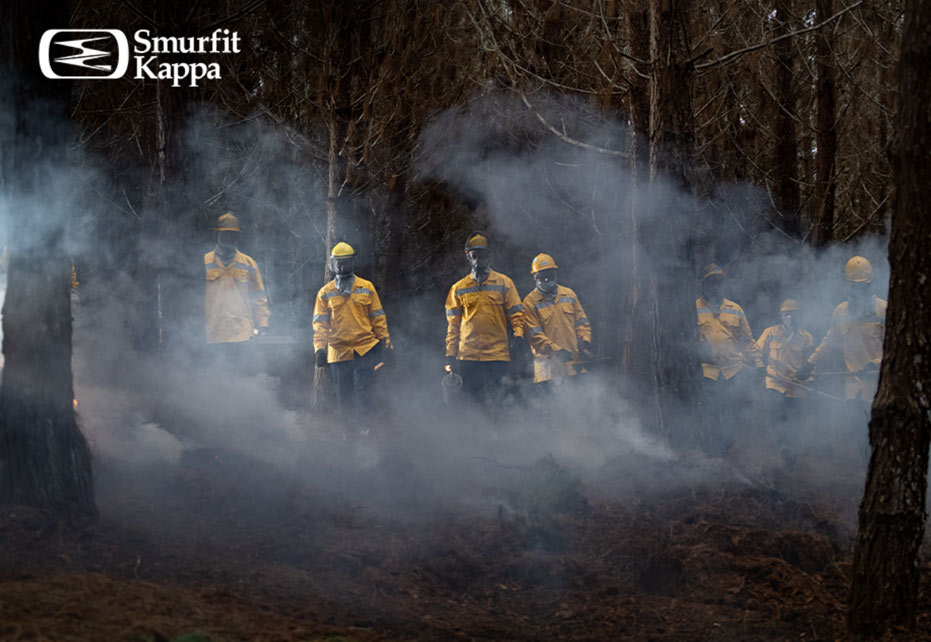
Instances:
[[[479,283],[471,274],[446,297],[446,356],[465,361],[510,361],[507,322],[524,336],[523,309],[508,277],[491,270]]]

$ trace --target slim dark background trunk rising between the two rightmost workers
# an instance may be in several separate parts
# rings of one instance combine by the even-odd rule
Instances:
[[[834,12],[833,0],[815,0],[815,22],[822,23]],[[834,57],[827,29],[815,34],[815,62],[818,73],[818,133],[815,156],[815,216],[811,242],[822,246],[834,238],[834,163],[837,157],[837,107],[834,85]]]

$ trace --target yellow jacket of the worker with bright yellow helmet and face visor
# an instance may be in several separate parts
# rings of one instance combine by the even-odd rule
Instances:
[[[314,303],[314,350],[327,350],[327,361],[352,361],[384,339],[389,344],[388,321],[371,281],[353,276],[349,290],[336,287],[336,279],[317,292]]]

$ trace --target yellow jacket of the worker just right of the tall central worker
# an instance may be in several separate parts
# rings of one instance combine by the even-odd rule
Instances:
[[[524,336],[533,352],[534,383],[584,372],[574,362],[579,360],[579,341],[592,340],[592,324],[570,288],[560,285],[553,296],[534,288],[524,297]],[[558,350],[568,350],[572,361],[553,357]]]

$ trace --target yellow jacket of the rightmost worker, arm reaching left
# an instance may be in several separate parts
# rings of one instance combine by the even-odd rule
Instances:
[[[844,301],[831,315],[831,326],[821,344],[808,360],[815,368],[831,353],[842,350],[844,365],[851,373],[844,385],[844,397],[871,401],[879,383],[879,364],[883,357],[883,334],[886,329],[886,302],[873,297],[872,309],[853,318]],[[867,370],[869,366],[875,366]],[[856,374],[854,374],[856,373]]]

